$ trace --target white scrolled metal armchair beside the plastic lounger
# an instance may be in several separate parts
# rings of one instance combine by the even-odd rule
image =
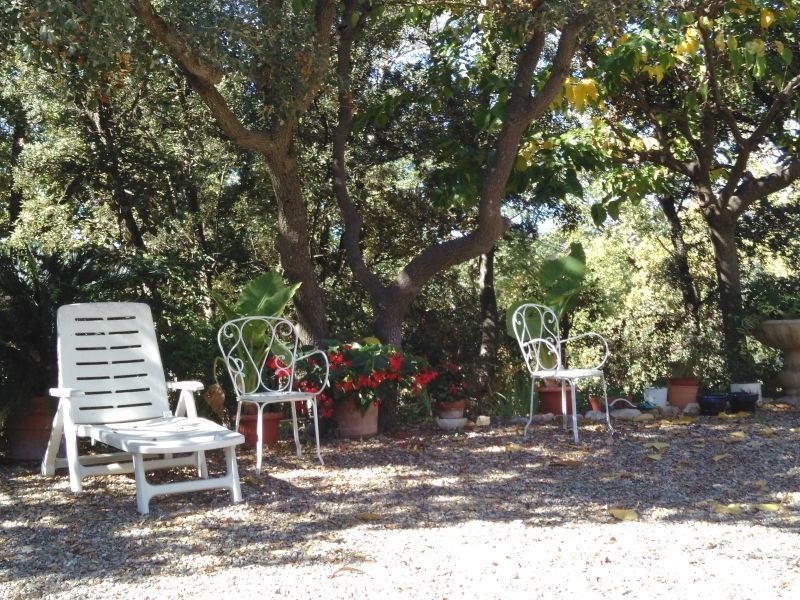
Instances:
[[[292,411],[292,426],[297,456],[303,452],[297,428],[297,403],[305,403],[314,420],[314,435],[317,441],[317,458],[320,464],[322,452],[319,445],[319,407],[317,396],[328,385],[330,366],[328,356],[321,350],[299,353],[299,338],[293,323],[279,317],[249,316],[232,319],[222,325],[217,334],[222,357],[231,377],[238,407],[236,429],[243,404],[254,404],[256,418],[256,472],[261,472],[263,456],[264,408],[271,404],[289,403]],[[315,391],[298,389],[298,366],[309,365],[317,360],[324,365],[325,377]],[[278,361],[277,364],[275,361]]]

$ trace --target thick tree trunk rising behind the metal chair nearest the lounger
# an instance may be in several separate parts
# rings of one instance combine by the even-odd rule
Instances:
[[[278,200],[276,246],[281,264],[290,282],[302,284],[294,297],[300,337],[306,344],[319,345],[328,337],[325,298],[311,260],[308,216],[292,142],[289,141],[285,148],[265,155],[265,158]]]

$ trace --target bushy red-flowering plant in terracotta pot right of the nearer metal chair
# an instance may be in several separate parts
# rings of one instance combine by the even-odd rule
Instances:
[[[362,342],[331,341],[327,347],[331,387],[320,395],[323,406],[333,406],[339,433],[363,438],[378,433],[378,407],[390,396],[419,396],[436,373],[425,361],[404,354],[376,338]],[[317,385],[314,364],[303,385]]]

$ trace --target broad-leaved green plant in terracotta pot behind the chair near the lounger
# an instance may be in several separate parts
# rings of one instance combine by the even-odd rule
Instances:
[[[248,316],[266,316],[266,317],[280,317],[283,315],[286,305],[294,297],[294,294],[300,288],[300,284],[286,285],[283,278],[277,271],[270,270],[262,275],[251,280],[247,285],[242,288],[236,304],[229,305],[227,301],[218,292],[212,291],[211,296],[222,310],[226,320],[236,319],[239,317]],[[257,358],[258,364],[264,360],[267,361],[267,375],[268,378],[273,379],[276,384],[281,377],[284,376],[283,364],[281,363],[280,348],[278,347],[277,353],[272,353],[270,356],[264,356],[269,341],[265,339],[264,330],[250,328],[247,330],[247,336],[244,339],[244,346],[241,351],[249,353],[250,356]],[[221,359],[217,357],[214,361],[214,371],[216,373],[216,366]],[[249,361],[244,361],[245,365],[249,365]],[[257,374],[250,372],[246,374],[246,378],[255,378]],[[255,381],[253,379],[253,381]],[[247,382],[246,387],[252,382]],[[218,382],[209,386],[208,391],[204,398],[213,401],[213,406],[209,404],[212,410],[218,415],[221,412],[219,406],[224,403],[225,394],[222,387]],[[221,400],[220,400],[221,398]],[[256,406],[252,403],[243,403],[242,414],[239,416],[239,432],[245,436],[245,445],[254,448],[257,445],[257,414]],[[283,419],[283,407],[275,404],[268,404],[262,415],[262,432],[264,441],[267,446],[274,446],[278,441],[278,433],[280,421]]]

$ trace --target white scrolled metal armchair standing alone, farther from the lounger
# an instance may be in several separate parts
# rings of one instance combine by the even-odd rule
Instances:
[[[576,406],[575,386],[581,379],[599,377],[603,383],[603,399],[606,408],[606,424],[609,431],[611,418],[609,416],[608,393],[606,380],[602,367],[608,360],[608,342],[597,333],[583,333],[567,339],[561,339],[558,318],[555,312],[541,304],[523,304],[514,311],[512,316],[514,336],[519,343],[525,366],[531,376],[530,413],[528,423],[525,425],[523,435],[528,435],[528,428],[533,422],[533,399],[536,390],[536,379],[554,379],[561,382],[561,412],[564,415],[564,424],[567,419],[567,393],[569,386],[570,401],[572,402],[572,433],[575,443],[578,443],[578,411]],[[601,360],[587,369],[571,369],[565,367],[564,350],[568,343],[586,338],[596,338],[603,349]]]

